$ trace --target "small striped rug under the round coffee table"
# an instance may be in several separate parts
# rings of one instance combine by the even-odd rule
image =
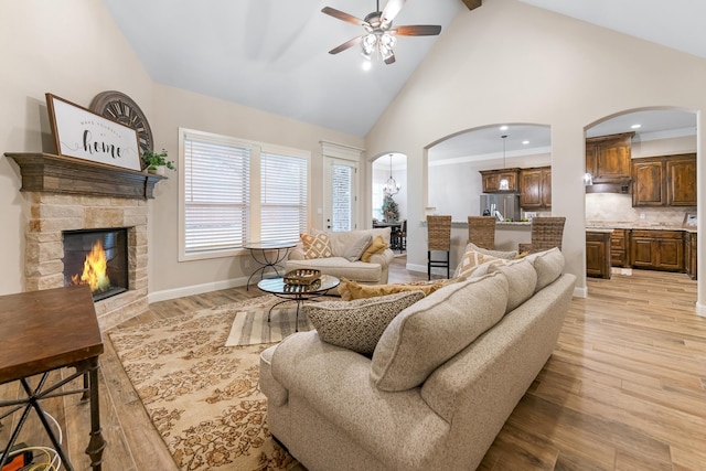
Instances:
[[[234,345],[254,345],[258,343],[276,343],[281,342],[284,338],[296,332],[297,325],[299,331],[311,330],[309,319],[304,313],[304,309],[299,309],[299,320],[297,320],[297,303],[288,301],[279,304],[270,313],[270,320],[267,321],[269,306],[268,302],[263,308],[244,308],[235,311],[235,319],[231,328],[231,334],[225,342],[226,346]]]

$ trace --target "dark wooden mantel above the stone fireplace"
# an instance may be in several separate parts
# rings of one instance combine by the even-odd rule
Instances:
[[[20,191],[153,199],[161,175],[51,153],[6,153],[20,165]]]

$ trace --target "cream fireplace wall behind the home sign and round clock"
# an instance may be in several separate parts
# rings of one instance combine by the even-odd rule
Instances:
[[[98,1],[3,1],[0,14],[0,153],[55,153],[45,93],[88,107],[118,89],[152,117],[151,81]],[[24,287],[20,171],[0,157],[0,295]]]

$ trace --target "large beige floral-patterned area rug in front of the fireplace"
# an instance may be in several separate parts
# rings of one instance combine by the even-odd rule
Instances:
[[[263,310],[274,302],[265,296],[108,332],[181,470],[298,465],[267,428],[267,400],[258,377],[259,354],[270,344],[225,346],[237,312]]]

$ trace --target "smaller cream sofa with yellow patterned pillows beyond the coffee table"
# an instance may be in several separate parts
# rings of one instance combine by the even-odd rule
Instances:
[[[321,231],[312,231],[312,234],[321,234]],[[285,263],[285,270],[291,271],[297,268],[315,268],[323,275],[331,275],[336,278],[347,278],[365,285],[381,285],[387,282],[387,268],[395,254],[386,248],[379,254],[371,256],[370,261],[350,260],[345,258],[350,247],[355,245],[362,237],[371,236],[373,239],[381,236],[389,247],[389,227],[376,229],[349,231],[340,233],[325,233],[331,242],[332,257],[307,259],[302,244],[289,251],[289,257]]]

